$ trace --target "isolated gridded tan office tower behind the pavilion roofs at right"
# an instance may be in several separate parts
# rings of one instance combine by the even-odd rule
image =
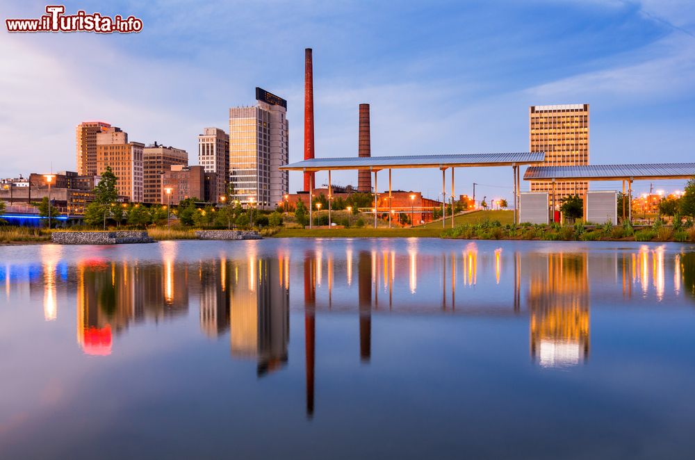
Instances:
[[[589,104],[530,106],[530,151],[546,152],[541,166],[576,166],[589,164]],[[555,182],[557,203],[569,195],[583,197],[587,181]],[[532,192],[553,193],[553,183],[531,182]]]

